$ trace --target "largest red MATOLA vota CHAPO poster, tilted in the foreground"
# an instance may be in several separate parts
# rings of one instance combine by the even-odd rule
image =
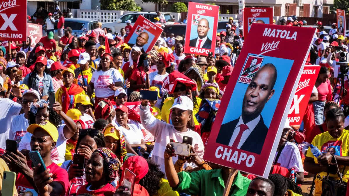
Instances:
[[[203,159],[267,178],[315,29],[255,23],[249,33]]]

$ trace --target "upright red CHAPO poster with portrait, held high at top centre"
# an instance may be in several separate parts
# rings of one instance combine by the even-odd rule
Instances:
[[[207,56],[215,52],[219,6],[188,3],[184,53]]]

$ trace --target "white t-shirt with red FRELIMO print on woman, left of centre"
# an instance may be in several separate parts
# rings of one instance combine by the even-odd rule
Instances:
[[[95,71],[90,82],[94,83],[96,97],[110,97],[114,95],[115,91],[111,90],[108,85],[115,82],[124,83],[124,78],[118,70],[110,68],[107,71]]]

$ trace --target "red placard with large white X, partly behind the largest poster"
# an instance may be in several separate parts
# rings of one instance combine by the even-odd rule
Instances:
[[[287,118],[290,125],[300,125],[303,120],[305,109],[309,103],[309,98],[313,90],[316,78],[318,77],[320,66],[306,65],[304,66],[302,76],[297,86],[295,96],[293,97],[290,111]]]

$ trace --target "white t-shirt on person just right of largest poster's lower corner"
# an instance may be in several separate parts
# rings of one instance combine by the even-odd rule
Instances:
[[[275,153],[274,161],[277,156]],[[285,167],[287,169],[295,168],[297,172],[304,172],[302,157],[296,144],[286,142],[284,149],[282,149],[279,159],[277,159],[277,165]],[[276,164],[275,164],[276,165]]]

